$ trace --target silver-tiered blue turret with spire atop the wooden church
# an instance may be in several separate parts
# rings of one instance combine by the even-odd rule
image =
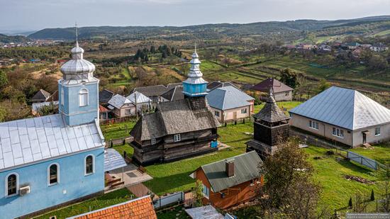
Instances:
[[[207,95],[207,83],[203,78],[200,69],[201,61],[196,53],[192,54],[192,60],[189,62],[191,69],[189,69],[188,78],[183,82],[183,94],[186,98]]]

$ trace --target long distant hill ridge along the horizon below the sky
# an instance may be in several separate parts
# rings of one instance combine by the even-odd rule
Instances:
[[[267,21],[257,23],[218,23],[198,26],[99,26],[79,28],[79,38],[109,38],[109,39],[140,39],[140,38],[167,38],[190,40],[194,38],[221,38],[223,36],[245,35],[299,35],[303,31],[321,31],[328,29],[327,34],[332,34],[333,29],[342,28],[345,33],[354,34],[356,26],[365,26],[372,32],[380,32],[388,28],[386,22],[390,22],[390,16],[374,16],[337,21]],[[380,26],[378,24],[383,24]],[[374,27],[374,28],[371,28]],[[47,28],[28,35],[33,39],[74,40],[74,28]],[[337,30],[340,32],[340,30]],[[362,31],[356,31],[357,34]]]

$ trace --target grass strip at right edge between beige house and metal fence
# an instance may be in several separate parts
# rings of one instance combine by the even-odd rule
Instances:
[[[381,164],[390,164],[390,143],[382,143],[373,145],[371,148],[356,147],[350,149],[352,152],[357,152],[364,157],[375,159]]]

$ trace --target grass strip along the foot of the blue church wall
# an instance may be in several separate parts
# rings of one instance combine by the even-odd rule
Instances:
[[[117,203],[129,201],[131,197],[133,196],[130,191],[128,191],[128,189],[119,189],[111,193],[106,193],[102,196],[89,199],[82,203],[77,203],[72,206],[67,206],[66,208],[61,208],[59,210],[46,213],[45,215],[40,215],[37,218],[47,219],[52,215],[56,215],[57,219],[67,218],[70,216],[87,213],[90,210],[98,210],[100,208],[116,205]]]

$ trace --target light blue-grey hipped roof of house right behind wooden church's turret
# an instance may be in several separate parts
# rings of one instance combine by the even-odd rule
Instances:
[[[211,107],[220,110],[249,106],[248,101],[254,100],[252,96],[245,94],[234,86],[213,89],[207,94],[206,99]]]

